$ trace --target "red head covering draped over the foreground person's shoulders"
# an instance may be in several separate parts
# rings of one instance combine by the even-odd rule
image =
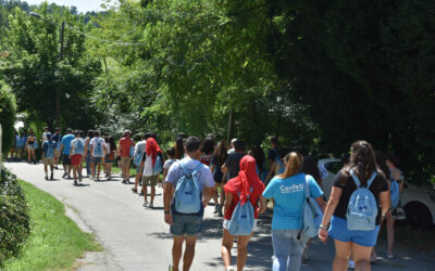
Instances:
[[[252,192],[251,192],[252,188]],[[224,186],[225,192],[240,193],[241,205],[249,199],[257,199],[258,195],[264,190],[264,184],[257,175],[256,159],[250,155],[245,155],[240,160],[240,171],[238,177],[231,179]]]

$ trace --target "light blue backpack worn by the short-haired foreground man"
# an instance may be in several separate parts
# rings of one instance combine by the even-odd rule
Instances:
[[[203,167],[198,163],[195,169],[189,172],[183,163],[179,163],[183,169],[183,176],[178,179],[175,192],[175,210],[181,214],[197,214],[201,209],[201,191],[199,191],[199,181],[195,175]]]

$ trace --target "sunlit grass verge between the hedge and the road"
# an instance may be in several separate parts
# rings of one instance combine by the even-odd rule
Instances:
[[[72,269],[85,251],[102,250],[91,234],[83,232],[50,194],[18,180],[29,207],[32,232],[17,258],[4,270]]]

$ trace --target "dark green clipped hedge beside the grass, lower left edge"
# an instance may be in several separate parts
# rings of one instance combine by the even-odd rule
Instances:
[[[1,168],[0,177],[0,267],[16,256],[30,233],[26,199],[16,177]]]

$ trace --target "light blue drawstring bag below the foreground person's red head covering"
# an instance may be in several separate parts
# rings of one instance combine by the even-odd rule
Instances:
[[[237,194],[238,196],[240,196],[240,193]],[[249,196],[250,195],[248,195],[248,202],[246,202],[244,205],[241,205],[241,202],[238,202],[236,208],[233,211],[233,216],[228,223],[228,232],[231,235],[249,235],[253,230],[253,207],[252,204],[249,202]]]

